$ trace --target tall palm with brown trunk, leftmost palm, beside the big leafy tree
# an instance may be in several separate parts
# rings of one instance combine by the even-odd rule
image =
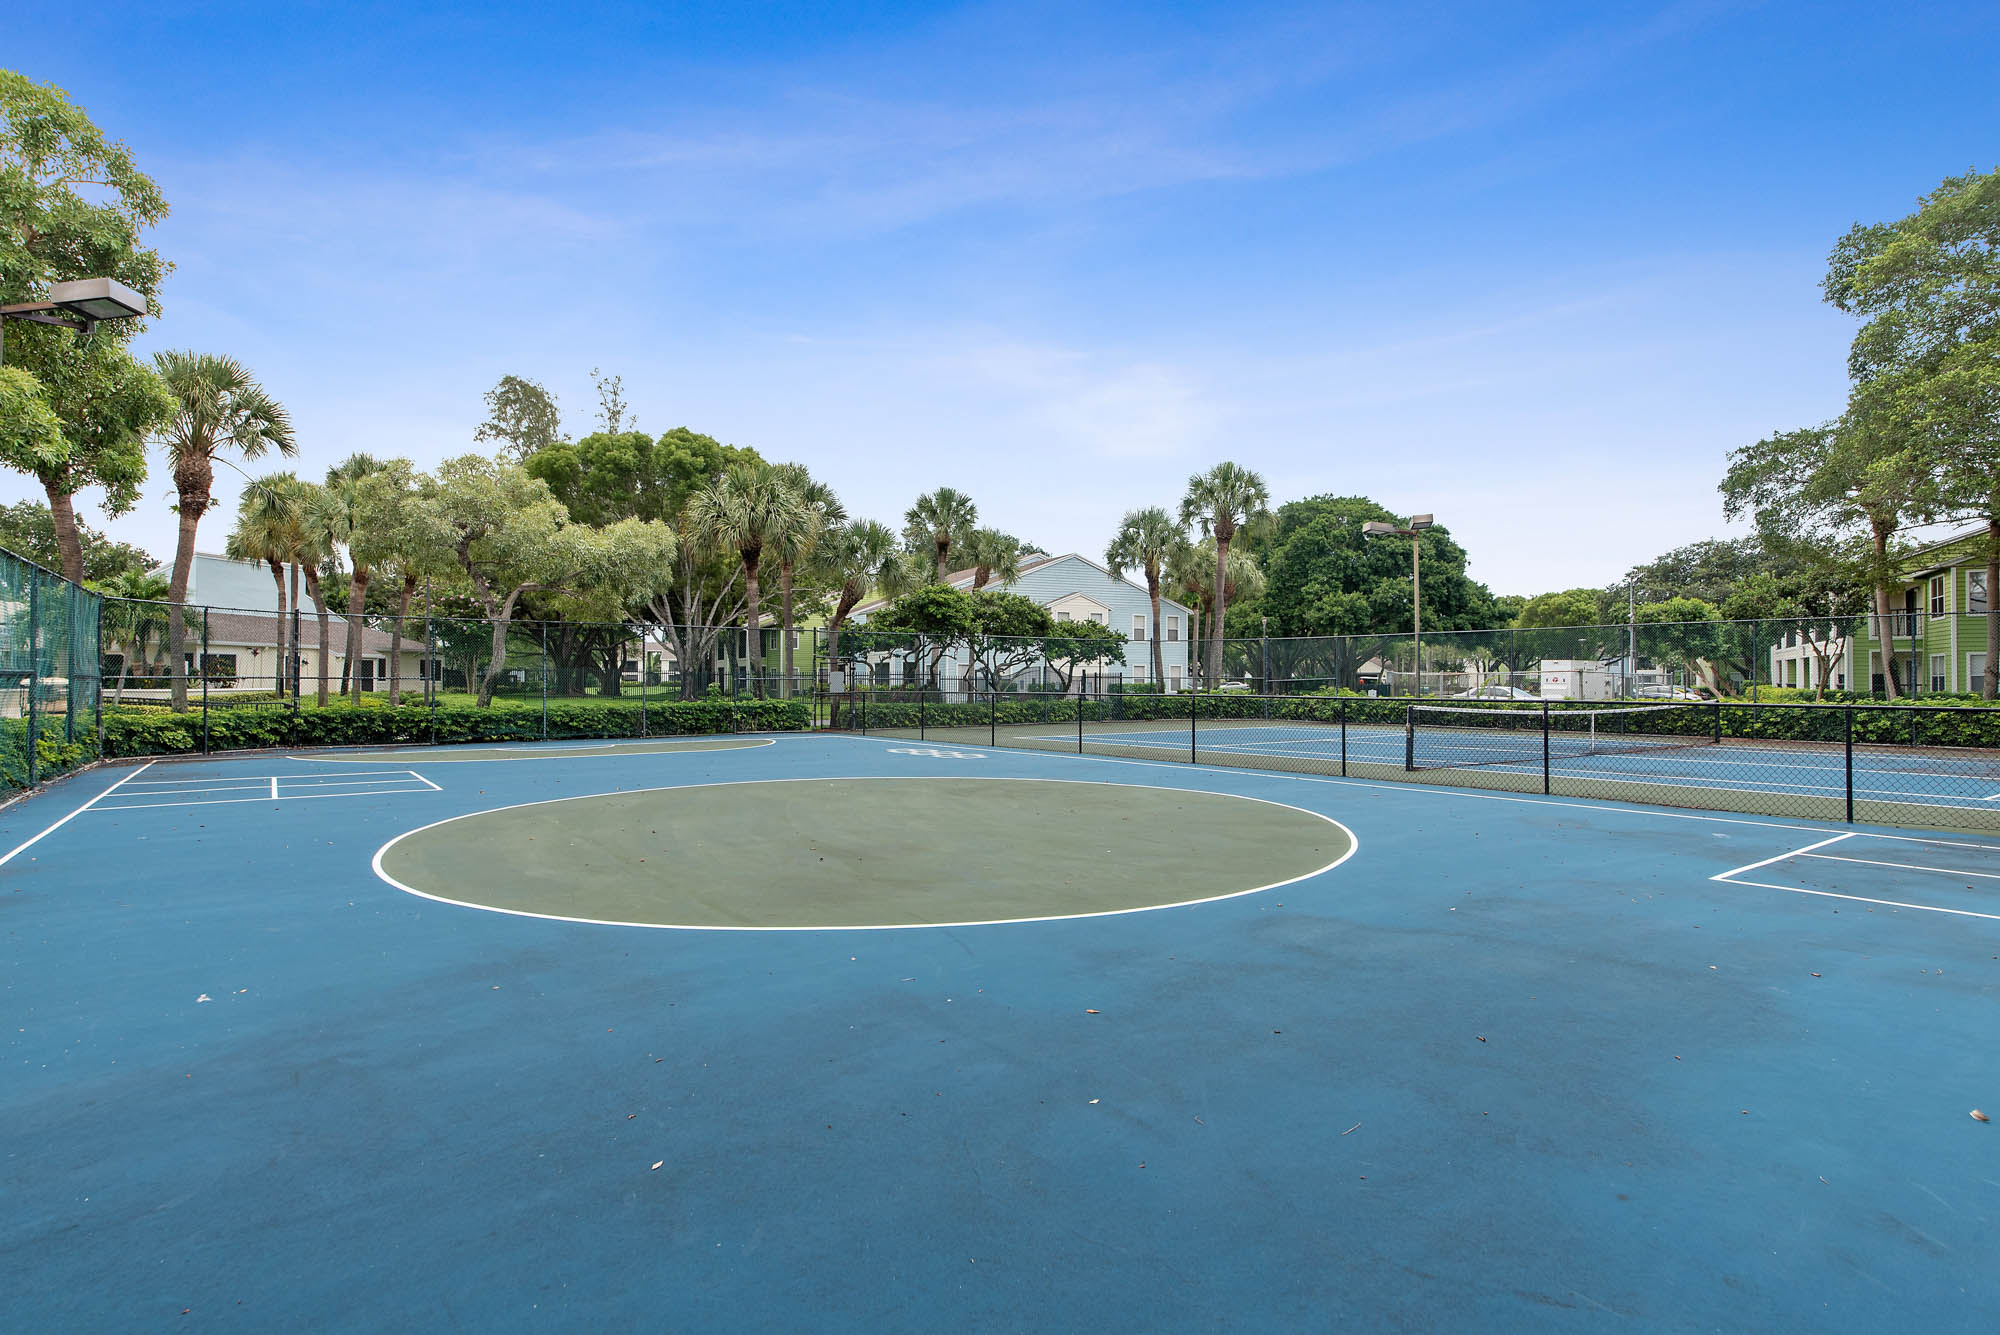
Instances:
[[[168,582],[166,650],[174,671],[174,709],[188,707],[188,576],[194,572],[194,534],[208,514],[216,486],[216,460],[234,450],[246,460],[266,450],[294,454],[292,418],[236,358],[206,352],[162,352],[154,358],[160,380],[174,396],[174,416],[162,428],[174,466],[180,536],[174,576]]]

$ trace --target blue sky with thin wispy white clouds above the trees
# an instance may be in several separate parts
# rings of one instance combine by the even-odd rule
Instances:
[[[1990,2],[44,4],[0,64],[160,180],[146,346],[302,472],[466,452],[508,372],[590,430],[602,368],[896,524],[1102,554],[1232,458],[1514,594],[1722,534],[1724,456],[1840,410],[1834,238],[2000,162]]]

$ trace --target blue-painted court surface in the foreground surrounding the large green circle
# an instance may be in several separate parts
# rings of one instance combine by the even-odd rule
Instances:
[[[1996,839],[844,735],[382,755],[0,811],[0,1327],[1996,1325]],[[566,921],[376,871],[452,817],[698,785],[834,843],[790,789],[878,777],[1248,797],[1352,845],[1232,897],[1170,873],[1172,907],[904,929]],[[1158,853],[1116,823],[1064,885]],[[674,877],[724,831],[644,833],[646,875],[728,907]]]

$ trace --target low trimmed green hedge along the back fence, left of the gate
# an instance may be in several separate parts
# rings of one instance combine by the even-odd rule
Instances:
[[[804,699],[690,699],[648,703],[550,701],[544,731],[540,705],[374,705],[364,709],[210,709],[208,749],[306,745],[384,745],[454,741],[538,741],[546,737],[638,737],[724,731],[806,731]],[[644,723],[644,727],[642,727]],[[106,755],[168,755],[202,749],[202,713],[104,709]]]

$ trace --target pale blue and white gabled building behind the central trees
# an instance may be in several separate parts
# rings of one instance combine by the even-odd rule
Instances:
[[[946,576],[944,584],[954,590],[972,590],[976,572],[960,570]],[[1058,622],[1096,622],[1110,626],[1126,638],[1126,662],[1086,666],[1092,675],[1116,673],[1126,681],[1152,681],[1152,640],[1160,642],[1160,658],[1166,673],[1164,689],[1178,691],[1188,683],[1188,630],[1192,614],[1186,606],[1160,598],[1160,622],[1152,620],[1152,600],[1146,586],[1130,578],[1118,578],[1086,556],[1070,552],[1066,556],[1034,554],[1020,564],[1020,574],[1006,582],[986,586],[990,594],[1020,594],[1042,608]],[[866,624],[872,612],[880,612],[888,600],[876,598],[860,604],[852,618]],[[878,656],[874,664],[878,679],[896,671],[902,664],[894,656]],[[948,675],[964,681],[968,664],[952,656]],[[888,683],[884,679],[884,683]]]

